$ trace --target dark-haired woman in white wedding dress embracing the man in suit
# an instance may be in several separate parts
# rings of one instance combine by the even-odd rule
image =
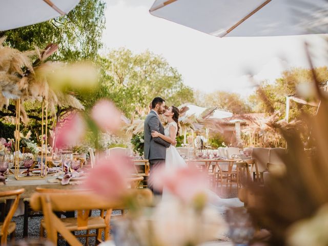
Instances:
[[[165,135],[153,131],[152,132],[152,137],[160,137],[163,140],[170,142],[171,146],[166,149],[166,159],[165,159],[165,168],[174,170],[179,167],[187,167],[187,163],[185,160],[180,156],[178,153],[177,149],[173,144],[176,143],[175,139],[176,136],[178,135],[179,132],[179,109],[175,106],[169,107],[163,115],[167,118],[168,124],[165,128]],[[163,190],[163,199],[166,197],[168,194],[167,192]],[[241,202],[238,198],[228,198],[224,199],[219,197],[217,194],[214,192],[208,190],[208,196],[210,199],[210,203],[216,207],[242,207],[243,202]]]

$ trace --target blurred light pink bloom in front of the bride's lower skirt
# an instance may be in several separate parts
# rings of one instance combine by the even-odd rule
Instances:
[[[154,189],[167,189],[171,194],[185,202],[192,201],[199,194],[206,194],[208,178],[196,168],[182,167],[174,170],[157,168],[150,176],[150,184]]]

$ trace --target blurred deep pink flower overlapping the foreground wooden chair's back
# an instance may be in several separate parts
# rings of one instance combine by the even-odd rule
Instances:
[[[107,199],[121,198],[128,191],[128,178],[132,173],[133,163],[126,156],[100,157],[90,171],[85,187]]]

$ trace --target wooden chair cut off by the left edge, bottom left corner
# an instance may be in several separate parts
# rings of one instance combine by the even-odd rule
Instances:
[[[18,189],[18,190],[13,190],[13,191],[0,192],[0,197],[16,196],[4,222],[0,223],[1,245],[7,245],[8,234],[11,235],[12,237],[14,237],[14,235],[15,235],[16,223],[12,222],[11,219],[17,209],[18,202],[20,199],[20,194],[22,194],[24,191],[25,191],[24,189]]]

